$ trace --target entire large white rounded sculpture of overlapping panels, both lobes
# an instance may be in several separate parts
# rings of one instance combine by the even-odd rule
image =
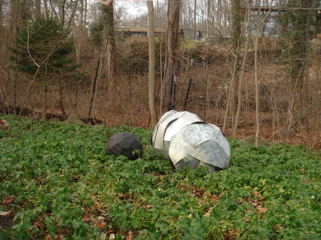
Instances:
[[[176,170],[206,166],[218,171],[230,163],[231,149],[223,132],[190,112],[165,113],[156,124],[151,145]]]

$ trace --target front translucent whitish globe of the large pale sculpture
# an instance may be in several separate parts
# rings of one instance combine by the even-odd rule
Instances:
[[[230,163],[230,144],[221,130],[212,124],[194,123],[182,128],[170,141],[169,159],[176,170],[205,166],[209,172]]]

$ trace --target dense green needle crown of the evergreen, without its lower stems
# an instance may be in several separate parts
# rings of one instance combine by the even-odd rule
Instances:
[[[18,56],[16,60],[19,71],[36,74],[39,78],[45,75],[70,76],[79,65],[73,64],[74,42],[68,37],[60,22],[53,17],[37,18],[23,28],[11,51]]]

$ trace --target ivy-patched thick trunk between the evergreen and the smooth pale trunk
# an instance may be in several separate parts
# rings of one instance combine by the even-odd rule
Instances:
[[[114,51],[115,51],[115,24],[114,24],[114,6],[113,1],[103,7],[103,16],[105,24],[105,44],[107,52],[107,83],[110,83],[114,71]]]

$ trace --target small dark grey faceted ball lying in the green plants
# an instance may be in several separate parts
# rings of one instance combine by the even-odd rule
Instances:
[[[133,154],[134,150],[138,150],[138,154]],[[108,155],[122,155],[130,160],[136,160],[143,155],[143,144],[135,134],[119,132],[109,138],[106,152]]]

